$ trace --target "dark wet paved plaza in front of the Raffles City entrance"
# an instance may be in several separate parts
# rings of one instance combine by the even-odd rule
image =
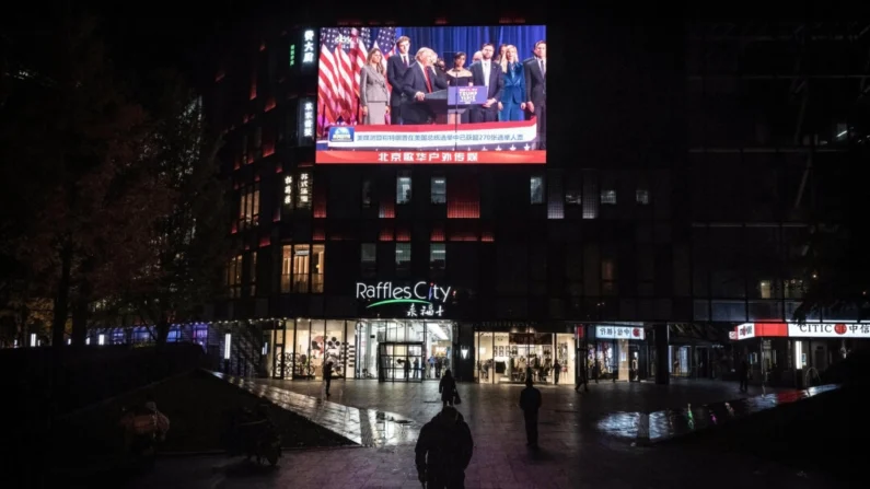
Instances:
[[[437,383],[336,381],[326,400],[317,382],[228,381],[341,432],[361,446],[288,451],[277,469],[223,456],[166,457],[134,487],[420,487],[414,442],[421,424],[441,408]],[[580,394],[572,386],[542,386],[542,447],[530,451],[517,407],[522,386],[461,384],[463,403],[459,409],[475,441],[466,487],[835,487],[822,475],[738,453],[712,453],[697,446],[687,450],[680,444],[633,446],[631,439],[614,435],[600,426],[614,414],[700,406],[746,396],[739,395],[735,387],[720,382],[669,386],[601,383],[590,385],[590,393]],[[758,387],[749,396],[762,394]]]

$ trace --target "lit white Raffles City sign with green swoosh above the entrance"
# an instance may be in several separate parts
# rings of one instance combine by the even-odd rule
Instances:
[[[406,306],[406,317],[443,317],[451,294],[455,295],[451,287],[434,282],[420,281],[413,286],[357,282],[357,300],[374,301],[366,308],[402,304]]]

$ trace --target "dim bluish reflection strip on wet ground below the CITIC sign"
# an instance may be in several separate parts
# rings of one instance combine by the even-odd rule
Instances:
[[[649,439],[656,442],[681,436],[836,388],[838,388],[836,385],[823,385],[804,391],[765,394],[703,406],[689,404],[685,408],[650,412]],[[635,439],[638,436],[638,431],[643,432],[642,422],[640,412],[614,412],[602,418],[596,429],[606,434]]]

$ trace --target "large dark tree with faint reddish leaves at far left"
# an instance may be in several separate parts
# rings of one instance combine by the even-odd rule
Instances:
[[[27,287],[53,298],[55,346],[71,301],[80,313],[73,339],[83,342],[88,304],[148,264],[151,216],[165,214],[171,200],[165,175],[148,166],[148,120],[115,82],[96,25],[68,16],[10,36],[8,65],[20,80],[0,117],[12,214],[1,232]]]

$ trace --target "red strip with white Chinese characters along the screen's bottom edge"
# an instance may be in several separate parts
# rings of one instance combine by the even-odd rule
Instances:
[[[317,151],[317,164],[545,164],[547,152],[532,151]]]

